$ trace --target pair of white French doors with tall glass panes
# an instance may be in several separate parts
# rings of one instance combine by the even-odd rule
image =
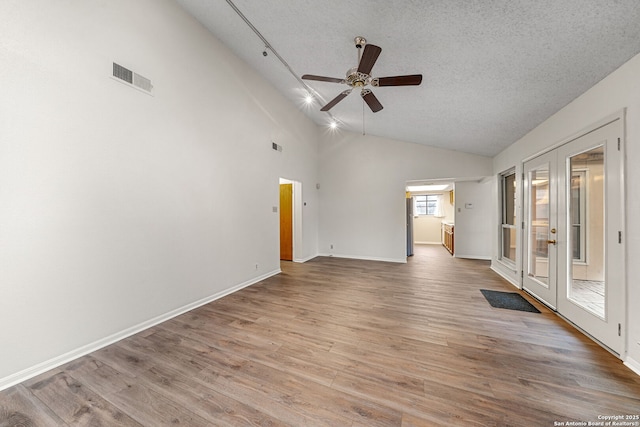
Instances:
[[[621,120],[524,164],[523,288],[624,350]]]

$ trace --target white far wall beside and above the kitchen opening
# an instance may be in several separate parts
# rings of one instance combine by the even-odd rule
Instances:
[[[488,157],[357,133],[326,133],[320,142],[319,251],[406,262],[406,182],[486,175],[491,175]]]

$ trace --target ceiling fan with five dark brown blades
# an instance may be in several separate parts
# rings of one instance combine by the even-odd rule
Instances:
[[[382,48],[372,44],[367,44],[364,37],[356,37],[354,39],[356,48],[358,49],[358,66],[353,67],[347,71],[347,77],[345,79],[339,79],[335,77],[315,76],[312,74],[305,74],[302,76],[305,80],[316,80],[320,82],[330,83],[342,83],[346,84],[349,89],[342,91],[338,96],[333,98],[327,105],[322,107],[320,111],[329,111],[338,102],[346,98],[354,88],[360,88],[360,96],[364,102],[367,103],[371,111],[377,113],[382,110],[382,104],[378,101],[378,98],[371,92],[367,86],[418,86],[422,83],[422,74],[411,74],[407,76],[392,76],[392,77],[371,77],[371,69],[376,63]],[[364,46],[364,52],[362,47]],[[362,56],[360,54],[362,53]]]

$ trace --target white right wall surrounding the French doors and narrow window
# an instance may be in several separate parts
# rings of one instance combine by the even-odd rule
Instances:
[[[522,160],[540,152],[546,147],[565,140],[579,131],[588,129],[592,124],[626,108],[626,230],[624,244],[626,250],[626,282],[627,282],[627,337],[628,353],[626,363],[640,373],[640,55],[632,58],[622,67],[611,73],[593,88],[575,99],[558,113],[536,127],[511,147],[494,158],[495,174],[516,166],[516,176],[522,174]],[[518,200],[521,200],[518,186]],[[496,184],[497,188],[497,184]],[[520,204],[520,203],[519,203]],[[494,210],[497,213],[497,211]],[[498,227],[499,216],[495,216],[494,224]],[[516,223],[522,221],[522,213],[518,211]],[[519,271],[511,271],[495,258],[499,245],[494,233],[492,267],[510,278],[514,283],[519,280]],[[521,239],[521,236],[520,236]],[[521,265],[520,254],[517,265]],[[623,355],[624,357],[624,355]]]

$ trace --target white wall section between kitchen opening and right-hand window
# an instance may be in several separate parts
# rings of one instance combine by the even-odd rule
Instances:
[[[492,198],[491,179],[456,182],[454,254],[456,258],[491,259]]]

